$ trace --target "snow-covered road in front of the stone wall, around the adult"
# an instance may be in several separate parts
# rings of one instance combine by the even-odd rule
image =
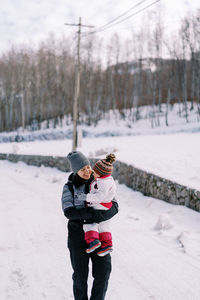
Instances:
[[[60,200],[67,176],[0,161],[1,300],[73,299]],[[199,300],[200,214],[124,185],[117,200],[106,299]]]

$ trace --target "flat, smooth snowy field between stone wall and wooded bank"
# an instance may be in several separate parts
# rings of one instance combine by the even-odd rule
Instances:
[[[72,141],[2,143],[0,153],[66,156]],[[200,190],[200,133],[84,138],[78,148],[89,157],[114,151],[118,160]]]

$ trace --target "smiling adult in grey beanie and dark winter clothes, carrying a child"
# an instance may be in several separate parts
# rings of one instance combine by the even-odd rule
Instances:
[[[111,219],[118,212],[118,204],[112,201],[108,210],[96,210],[86,206],[85,195],[89,193],[94,180],[89,160],[80,152],[72,151],[67,156],[73,173],[64,185],[62,209],[68,222],[68,248],[73,268],[73,292],[75,300],[88,300],[87,281],[89,260],[92,261],[94,278],[90,300],[104,300],[111,272],[111,256],[97,255],[97,250],[87,253],[88,245],[84,238],[85,223],[101,223]]]

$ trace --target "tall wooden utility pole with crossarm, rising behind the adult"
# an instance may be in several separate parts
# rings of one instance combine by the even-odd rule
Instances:
[[[83,25],[81,24],[81,17],[79,17],[78,24],[68,24],[68,26],[78,26],[78,42],[77,42],[77,58],[75,64],[75,85],[74,85],[74,103],[73,103],[73,142],[72,142],[72,150],[77,149],[77,119],[78,119],[78,101],[79,101],[79,93],[80,93],[80,43],[81,43],[81,27],[94,27],[91,25]]]

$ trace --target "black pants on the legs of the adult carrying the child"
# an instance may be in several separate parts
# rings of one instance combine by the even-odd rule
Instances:
[[[73,291],[75,300],[88,300],[87,281],[89,259],[92,260],[92,276],[94,278],[90,300],[104,300],[111,272],[111,256],[100,257],[96,252],[88,255],[83,248],[70,248],[70,258],[74,270]]]

